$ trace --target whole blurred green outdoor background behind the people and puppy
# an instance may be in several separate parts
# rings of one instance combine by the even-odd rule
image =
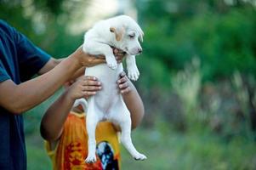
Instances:
[[[255,0],[0,0],[0,18],[55,58],[97,20],[129,14],[145,32],[137,57],[145,119],[122,169],[256,169]],[[60,91],[28,111],[28,169],[50,169],[39,122]]]

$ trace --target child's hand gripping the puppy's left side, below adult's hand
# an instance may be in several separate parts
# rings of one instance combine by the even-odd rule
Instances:
[[[69,82],[70,83],[70,82]],[[101,83],[96,77],[80,77],[67,88],[67,95],[71,99],[86,98],[94,95],[101,89]]]

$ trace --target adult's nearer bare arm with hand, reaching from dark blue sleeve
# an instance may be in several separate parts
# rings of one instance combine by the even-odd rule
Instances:
[[[0,105],[15,114],[28,111],[42,103],[43,100],[48,99],[64,82],[70,81],[81,67],[104,62],[105,59],[83,53],[82,47],[80,47],[75,53],[42,76],[22,82],[19,85],[10,79],[0,82]]]

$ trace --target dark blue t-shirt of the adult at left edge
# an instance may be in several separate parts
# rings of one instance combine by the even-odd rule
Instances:
[[[0,83],[16,84],[34,76],[50,56],[24,35],[0,20]],[[0,170],[26,170],[26,146],[23,117],[0,105]]]

